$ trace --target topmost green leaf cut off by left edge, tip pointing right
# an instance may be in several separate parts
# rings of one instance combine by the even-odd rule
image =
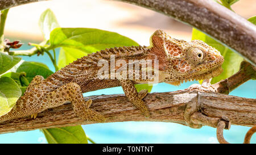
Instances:
[[[18,64],[21,59],[21,57],[9,56],[0,52],[0,74],[5,73],[7,70],[13,68],[13,66]]]

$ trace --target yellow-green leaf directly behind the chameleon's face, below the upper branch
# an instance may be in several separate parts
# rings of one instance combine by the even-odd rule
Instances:
[[[208,45],[216,48],[224,57],[224,63],[222,64],[222,68],[224,69],[224,71],[220,74],[220,76],[212,78],[212,84],[220,81],[221,79],[228,78],[234,73],[238,72],[238,70],[240,69],[240,64],[243,60],[240,55],[233,52],[229,47],[222,45],[220,42],[214,40],[212,37],[205,35],[205,33],[193,28],[192,40],[195,39],[202,40]]]

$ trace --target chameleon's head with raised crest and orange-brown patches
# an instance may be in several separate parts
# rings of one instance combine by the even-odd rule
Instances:
[[[224,58],[217,49],[201,40],[177,40],[162,30],[157,30],[150,42],[151,47],[158,51],[158,55],[161,53],[164,60],[159,60],[159,70],[166,77],[164,82],[175,81],[178,85],[184,80],[209,79],[222,73]]]

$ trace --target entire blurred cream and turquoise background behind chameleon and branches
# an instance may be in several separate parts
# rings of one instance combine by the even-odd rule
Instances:
[[[158,29],[169,35],[190,41],[192,27],[169,18],[158,12],[144,9],[117,1],[89,0],[55,0],[30,3],[13,7],[9,10],[6,20],[5,37],[11,41],[20,40],[23,43],[40,43],[43,35],[38,26],[39,17],[46,9],[51,9],[61,27],[98,28],[118,32],[141,45],[149,45],[151,34]],[[256,15],[255,0],[240,0],[232,9],[243,18]],[[21,49],[30,49],[24,44]],[[51,60],[44,56],[23,56],[26,61],[38,61],[47,64],[54,72]],[[151,93],[181,90],[197,81],[183,83],[176,87],[160,83],[154,85]],[[247,81],[230,95],[256,98],[256,81]],[[89,95],[121,94],[121,87],[108,90],[85,93]],[[202,127],[192,129],[175,123],[162,122],[119,122],[82,125],[87,136],[96,143],[218,143],[216,128]],[[249,127],[232,125],[224,136],[230,143],[242,143]],[[47,143],[39,130],[15,132],[0,135],[0,143]],[[256,135],[251,138],[256,143]]]

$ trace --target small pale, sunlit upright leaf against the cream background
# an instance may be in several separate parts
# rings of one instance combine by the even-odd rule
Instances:
[[[46,40],[49,40],[50,33],[53,29],[60,27],[51,9],[47,9],[41,14],[39,19],[39,27],[44,35],[44,39]]]

